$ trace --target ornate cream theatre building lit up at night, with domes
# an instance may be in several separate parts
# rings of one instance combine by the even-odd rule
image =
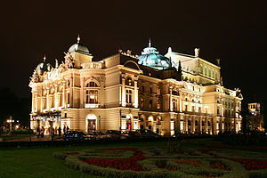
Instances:
[[[31,77],[32,129],[64,127],[90,132],[150,129],[170,135],[240,130],[240,91],[223,87],[220,67],[196,55],[160,55],[151,44],[93,61],[73,44],[53,68],[44,58]]]

